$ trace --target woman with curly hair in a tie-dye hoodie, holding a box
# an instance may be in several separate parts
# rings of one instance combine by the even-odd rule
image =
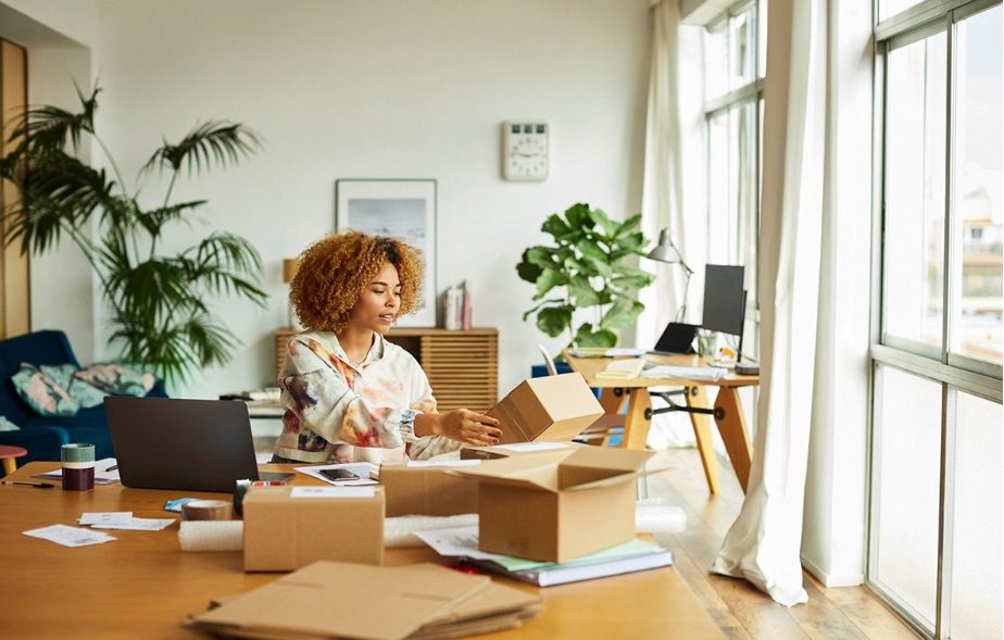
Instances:
[[[289,299],[306,330],[287,344],[273,462],[421,460],[499,441],[492,417],[437,413],[425,372],[384,339],[399,314],[417,310],[422,269],[413,247],[359,231],[303,252]]]

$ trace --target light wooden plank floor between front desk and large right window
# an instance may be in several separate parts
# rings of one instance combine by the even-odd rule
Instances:
[[[719,461],[720,493],[712,497],[695,449],[657,454],[668,472],[649,478],[650,498],[662,498],[687,513],[687,529],[657,536],[673,550],[677,570],[729,638],[915,640],[900,619],[866,588],[827,589],[807,572],[808,603],[783,607],[744,580],[712,575],[712,565],[729,526],[739,515],[742,490],[728,463]]]

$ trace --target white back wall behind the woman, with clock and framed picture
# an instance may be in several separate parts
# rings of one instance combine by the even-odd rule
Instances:
[[[265,311],[221,306],[246,344],[180,394],[271,381],[272,332],[286,324],[281,260],[334,229],[337,178],[438,180],[439,287],[467,278],[475,324],[499,328],[502,390],[539,361],[532,347],[542,336],[520,321],[532,288],[514,267],[525,247],[544,239],[544,217],[575,201],[617,217],[639,209],[645,0],[98,7],[95,65],[105,89],[98,126],[127,178],[161,134],[179,138],[200,120],[233,118],[266,141],[236,170],[176,189],[178,199],[208,198],[214,227],[259,248],[272,297]],[[500,125],[512,118],[550,122],[547,181],[500,178]],[[172,241],[187,244],[204,230]]]

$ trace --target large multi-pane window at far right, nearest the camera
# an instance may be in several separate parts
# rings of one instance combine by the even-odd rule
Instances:
[[[869,586],[1001,637],[1002,10],[880,0]]]

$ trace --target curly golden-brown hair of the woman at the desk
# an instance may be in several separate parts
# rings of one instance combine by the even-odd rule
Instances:
[[[418,311],[422,294],[422,255],[417,249],[382,236],[360,231],[332,234],[300,254],[297,275],[290,284],[289,301],[308,329],[341,332],[363,288],[389,262],[401,279],[398,313]]]

